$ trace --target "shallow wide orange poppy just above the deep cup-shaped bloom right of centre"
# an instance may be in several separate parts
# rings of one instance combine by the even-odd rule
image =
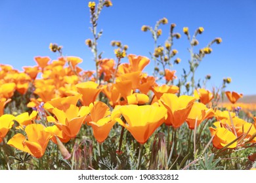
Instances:
[[[178,93],[179,87],[175,85],[168,86],[167,84],[163,84],[162,86],[153,86],[152,90],[155,93],[156,97],[160,99],[163,93]]]

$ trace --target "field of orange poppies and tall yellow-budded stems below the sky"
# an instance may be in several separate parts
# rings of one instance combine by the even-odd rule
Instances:
[[[142,25],[154,39],[150,58],[129,53],[112,41],[115,58],[98,50],[98,19],[112,2],[89,2],[95,70],[79,67],[83,59],[64,56],[62,46],[49,43],[58,58],[36,56],[35,66],[18,71],[0,65],[0,169],[30,170],[202,170],[256,169],[256,104],[240,103],[242,93],[205,88],[211,75],[196,80],[196,70],[212,52],[217,37],[194,52],[203,27],[193,30],[161,18]],[[159,44],[160,26],[169,36]],[[175,41],[188,39],[188,71]],[[157,44],[158,42],[158,44]],[[215,45],[217,46],[217,45]],[[154,65],[151,73],[147,65]],[[224,99],[227,101],[224,102]]]

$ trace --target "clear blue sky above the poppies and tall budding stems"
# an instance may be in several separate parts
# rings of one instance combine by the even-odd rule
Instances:
[[[85,39],[92,38],[89,27],[87,0],[0,0],[0,63],[12,65],[22,71],[22,66],[36,65],[35,56],[57,55],[50,52],[49,43],[62,45],[65,56],[83,59],[80,67],[95,69],[93,54],[85,45]],[[203,59],[196,78],[211,74],[207,84],[220,86],[224,77],[231,77],[232,83],[226,90],[256,94],[256,1],[255,0],[113,0],[113,6],[104,8],[100,14],[98,30],[103,29],[99,50],[104,58],[114,58],[110,42],[121,41],[129,45],[128,54],[149,56],[154,42],[149,32],[140,31],[142,25],[154,26],[157,20],[166,17],[169,24],[161,25],[163,35],[158,42],[164,44],[169,25],[175,23],[175,31],[181,39],[175,40],[181,64],[174,67],[177,76],[182,68],[188,71],[188,46],[182,27],[189,27],[190,33],[204,27],[198,35],[198,48],[206,46],[215,37],[221,37],[221,44],[212,46],[213,52]],[[153,62],[146,67],[152,72]]]

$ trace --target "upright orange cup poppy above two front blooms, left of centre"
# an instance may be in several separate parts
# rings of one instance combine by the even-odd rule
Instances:
[[[98,93],[100,93],[102,90],[98,88],[98,84],[92,81],[81,82],[75,86],[77,87],[78,92],[83,95],[82,102],[83,105],[86,106],[89,106],[90,103],[93,103],[96,100]]]

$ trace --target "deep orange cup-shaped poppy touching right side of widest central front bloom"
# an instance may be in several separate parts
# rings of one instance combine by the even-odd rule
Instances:
[[[160,98],[160,104],[163,104],[168,110],[168,118],[165,124],[180,127],[188,118],[194,101],[196,99],[192,96],[181,95],[177,97],[177,95],[172,93],[163,93]]]

